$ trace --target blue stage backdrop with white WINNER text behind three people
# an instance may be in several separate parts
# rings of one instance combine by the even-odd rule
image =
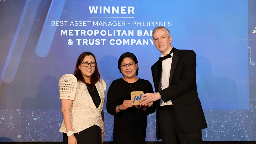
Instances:
[[[117,61],[124,52],[136,55],[138,77],[153,85],[151,66],[161,54],[151,33],[164,26],[173,47],[197,54],[197,89],[208,125],[202,139],[256,141],[255,5],[255,0],[1,0],[0,137],[62,141],[58,81],[73,74],[82,52],[95,55],[107,90],[122,78]],[[106,103],[104,115],[104,141],[112,141],[114,118]],[[147,121],[146,141],[157,141],[155,113]]]

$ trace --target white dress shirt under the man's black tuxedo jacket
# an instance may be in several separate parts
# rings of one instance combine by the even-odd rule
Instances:
[[[161,57],[164,57],[164,56],[165,55],[161,55]],[[162,88],[162,90],[166,89],[167,87],[169,87],[170,71],[171,71],[171,61],[172,61],[172,59],[173,59],[173,52],[171,53],[171,58],[164,59],[163,62],[162,62],[162,66],[163,66],[162,72],[161,72],[161,88]],[[167,106],[167,105],[173,105],[171,100],[169,100],[166,103],[164,103],[163,99],[160,99],[160,106]]]

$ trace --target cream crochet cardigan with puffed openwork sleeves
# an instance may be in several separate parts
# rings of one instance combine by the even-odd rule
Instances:
[[[101,112],[105,101],[106,83],[100,78],[99,82],[97,82],[95,86],[101,99],[100,106],[98,108],[94,105],[86,85],[77,81],[74,75],[66,74],[60,78],[59,98],[73,100],[70,108],[70,115],[72,128],[75,133],[83,131],[93,125],[98,125],[100,129],[102,129]],[[65,91],[63,91],[63,87]],[[59,131],[67,133],[64,120]]]

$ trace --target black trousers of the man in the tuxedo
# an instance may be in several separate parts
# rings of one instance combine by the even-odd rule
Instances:
[[[192,133],[183,132],[174,109],[159,110],[159,127],[163,144],[203,143],[201,130]]]

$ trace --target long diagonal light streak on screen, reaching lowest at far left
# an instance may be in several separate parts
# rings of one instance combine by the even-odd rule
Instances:
[[[22,11],[21,19],[14,35],[14,40],[7,56],[1,78],[4,82],[10,83],[14,80],[19,62],[28,40],[29,33],[40,1],[27,0]]]

